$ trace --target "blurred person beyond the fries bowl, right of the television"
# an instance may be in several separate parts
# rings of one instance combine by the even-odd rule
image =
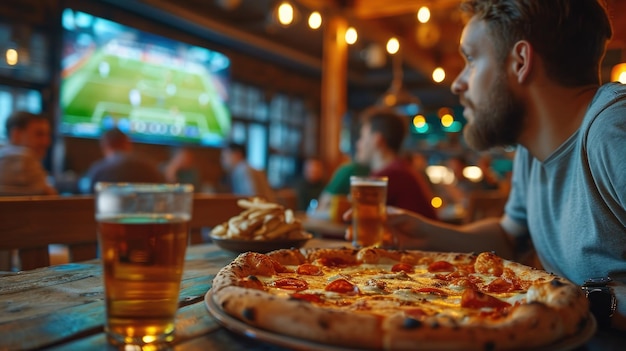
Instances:
[[[247,161],[247,150],[242,144],[230,142],[222,149],[222,167],[226,171],[226,191],[235,195],[258,196],[276,202],[265,172],[255,169]]]

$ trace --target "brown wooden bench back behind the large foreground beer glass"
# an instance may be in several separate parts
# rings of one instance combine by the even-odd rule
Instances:
[[[202,228],[240,213],[240,198],[195,194],[190,243],[203,241]],[[70,262],[97,257],[93,196],[0,197],[0,271],[13,268],[12,251],[22,270],[49,266],[52,244],[66,245]]]

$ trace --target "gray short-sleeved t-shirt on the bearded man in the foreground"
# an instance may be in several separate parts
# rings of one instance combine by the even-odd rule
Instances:
[[[576,284],[626,283],[626,85],[602,86],[579,130],[544,162],[518,147],[513,167],[504,227],[528,228],[547,271]]]

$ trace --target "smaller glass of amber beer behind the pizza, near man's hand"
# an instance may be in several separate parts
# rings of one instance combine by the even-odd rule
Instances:
[[[350,177],[352,245],[381,246],[387,218],[387,177]]]

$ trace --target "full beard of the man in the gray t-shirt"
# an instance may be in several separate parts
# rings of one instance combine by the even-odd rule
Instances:
[[[493,86],[491,98],[482,106],[471,107],[474,118],[465,126],[463,136],[472,149],[485,151],[518,142],[526,111],[522,101],[507,86],[503,75]]]

